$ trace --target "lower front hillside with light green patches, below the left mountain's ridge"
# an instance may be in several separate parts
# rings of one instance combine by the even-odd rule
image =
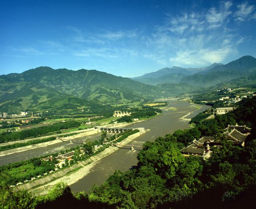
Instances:
[[[25,109],[88,109],[92,105],[93,102],[40,84],[17,82],[0,85],[0,112],[19,112]]]

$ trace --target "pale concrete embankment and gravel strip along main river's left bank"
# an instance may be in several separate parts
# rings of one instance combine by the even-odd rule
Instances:
[[[130,135],[126,139],[121,141],[120,143],[128,144],[129,142],[133,141],[133,139],[135,139],[136,137],[139,137],[143,133],[144,132],[137,132],[133,135]],[[76,181],[82,179],[86,174],[88,174],[88,172],[90,172],[90,168],[92,167],[92,165],[90,163],[95,163],[96,161],[108,156],[109,154],[113,153],[114,151],[116,151],[118,149],[119,148],[116,146],[110,146],[109,148],[96,154],[95,156],[88,158],[85,161],[79,162],[78,164],[73,165],[68,168],[65,168],[63,170],[59,170],[53,174],[49,174],[40,179],[36,179],[34,181],[16,186],[15,189],[28,189],[28,190],[31,190],[33,193],[45,194],[45,193],[47,193],[47,190],[49,188],[51,188],[53,185],[55,185],[58,182],[64,181],[66,184],[71,185],[71,184],[75,183]],[[80,168],[79,170],[77,170],[75,172],[72,172],[72,170],[74,170],[78,167],[81,167],[81,166],[82,166],[82,168]],[[72,172],[72,173],[69,175],[66,175],[69,172]],[[49,182],[49,183],[47,183],[47,182]],[[40,185],[42,185],[42,186],[40,186]],[[37,187],[37,188],[32,189],[33,187]]]

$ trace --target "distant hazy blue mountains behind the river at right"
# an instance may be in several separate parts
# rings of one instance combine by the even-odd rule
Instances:
[[[188,84],[209,87],[239,77],[247,77],[256,72],[256,58],[243,56],[226,65],[214,63],[201,68],[171,67],[132,78],[144,84]]]

